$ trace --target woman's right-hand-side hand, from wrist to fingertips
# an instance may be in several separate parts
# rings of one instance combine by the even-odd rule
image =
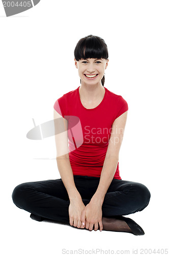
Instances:
[[[86,219],[86,222],[85,222]],[[98,224],[100,226],[100,231],[103,229],[102,224],[102,204],[95,199],[91,199],[90,203],[87,204],[85,209],[82,211],[81,222],[85,223],[85,227],[89,230],[93,229],[96,231],[98,229]]]

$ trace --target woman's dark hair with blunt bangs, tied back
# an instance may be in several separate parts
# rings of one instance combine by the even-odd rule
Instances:
[[[88,58],[108,59],[107,45],[101,37],[88,35],[77,42],[74,49],[74,57],[77,61]],[[102,86],[104,86],[104,82],[105,77],[103,76],[101,79]]]

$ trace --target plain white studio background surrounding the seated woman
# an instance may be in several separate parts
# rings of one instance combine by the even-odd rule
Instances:
[[[6,17],[1,4],[1,255],[96,248],[140,254],[168,247],[168,7],[150,0],[41,0]],[[80,86],[74,48],[90,34],[108,47],[105,87],[129,106],[119,168],[122,179],[151,192],[148,207],[128,216],[145,236],[36,222],[12,201],[20,183],[60,178],[54,137],[38,141],[26,134],[32,118],[36,125],[51,120],[55,100]]]

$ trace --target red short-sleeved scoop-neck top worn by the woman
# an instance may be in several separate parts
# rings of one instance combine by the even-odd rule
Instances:
[[[100,177],[112,123],[128,110],[122,96],[105,88],[98,106],[82,105],[79,87],[55,101],[53,108],[68,121],[69,159],[73,175]],[[119,162],[114,176],[121,180]]]

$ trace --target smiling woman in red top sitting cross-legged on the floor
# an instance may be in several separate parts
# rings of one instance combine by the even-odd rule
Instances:
[[[128,104],[104,87],[105,41],[93,35],[81,38],[74,57],[80,86],[54,103],[61,179],[22,183],[13,191],[13,202],[37,221],[51,219],[77,228],[143,235],[137,223],[123,217],[143,210],[150,191],[143,184],[122,180],[119,174]]]

